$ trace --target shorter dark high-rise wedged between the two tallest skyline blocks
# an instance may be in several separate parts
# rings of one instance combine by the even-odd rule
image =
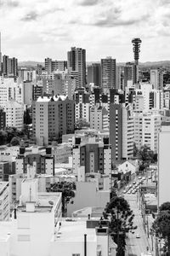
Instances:
[[[101,87],[101,65],[92,63],[88,66],[88,85],[94,83],[95,86]]]

